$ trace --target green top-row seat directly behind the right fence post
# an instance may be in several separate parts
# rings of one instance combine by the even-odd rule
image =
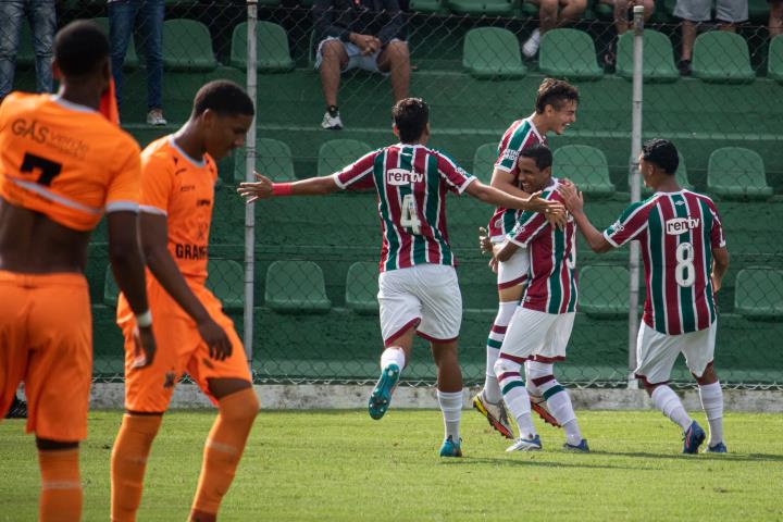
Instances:
[[[633,41],[631,30],[618,39],[616,72],[625,79],[633,79]],[[664,34],[645,29],[642,76],[645,82],[675,82],[680,77],[671,40]]]

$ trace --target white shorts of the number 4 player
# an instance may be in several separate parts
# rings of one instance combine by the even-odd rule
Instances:
[[[453,266],[427,263],[382,272],[378,287],[386,346],[417,325],[417,334],[431,341],[459,337],[462,295]]]

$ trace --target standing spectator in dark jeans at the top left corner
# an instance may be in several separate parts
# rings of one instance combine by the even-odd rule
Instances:
[[[0,0],[0,102],[13,88],[16,52],[22,24],[27,18],[33,28],[38,92],[53,90],[52,40],[57,29],[54,0]]]

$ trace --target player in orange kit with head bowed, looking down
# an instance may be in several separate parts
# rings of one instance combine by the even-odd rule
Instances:
[[[121,298],[126,413],[112,452],[112,521],[136,520],[145,462],[184,372],[219,409],[204,447],[191,521],[215,520],[258,413],[241,341],[204,286],[215,160],[244,144],[253,113],[239,86],[209,83],[196,95],[188,122],[141,154],[141,245],[154,276],[147,278],[147,293],[161,350],[151,371],[133,368],[135,321]]]

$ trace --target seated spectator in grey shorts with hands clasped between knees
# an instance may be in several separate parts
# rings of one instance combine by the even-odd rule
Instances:
[[[355,67],[391,76],[395,102],[408,97],[410,57],[398,0],[315,0],[315,69],[326,113],[321,126],[343,128],[337,107],[340,74]]]

